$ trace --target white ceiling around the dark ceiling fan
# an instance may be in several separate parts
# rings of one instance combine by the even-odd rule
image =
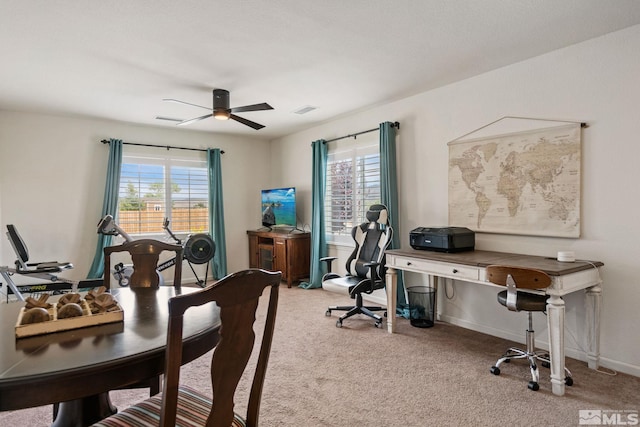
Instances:
[[[638,0],[0,0],[0,109],[266,138],[640,23]],[[597,58],[594,58],[597,61]],[[293,111],[311,105],[304,115]]]

